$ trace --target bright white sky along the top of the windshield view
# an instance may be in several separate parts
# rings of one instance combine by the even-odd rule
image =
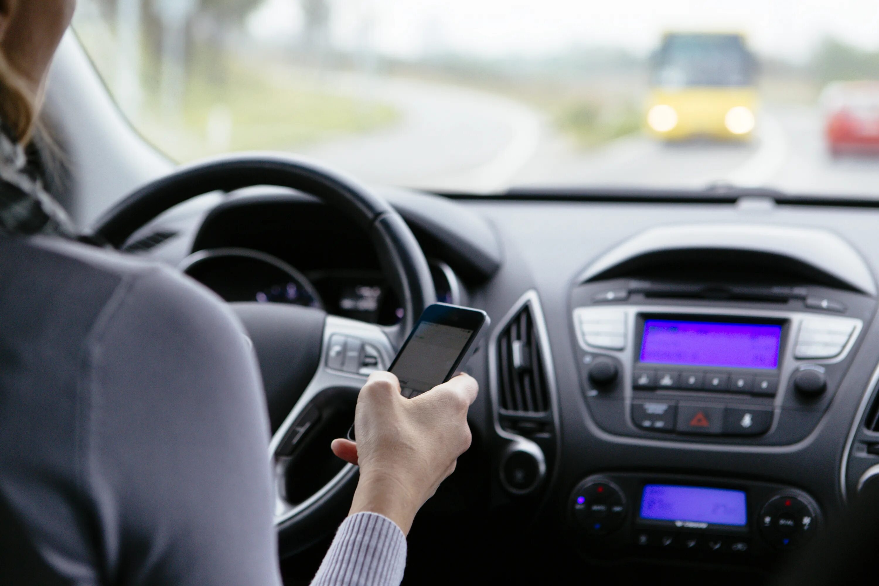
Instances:
[[[453,51],[480,57],[621,47],[647,54],[666,30],[744,32],[760,54],[805,61],[836,37],[879,49],[877,0],[329,0],[338,47],[368,46],[417,59]],[[297,0],[266,0],[249,21],[258,38],[301,30]]]

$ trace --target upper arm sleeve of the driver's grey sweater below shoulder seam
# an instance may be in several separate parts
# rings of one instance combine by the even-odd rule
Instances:
[[[265,397],[229,307],[171,271],[139,271],[83,358],[80,482],[100,582],[280,585]]]

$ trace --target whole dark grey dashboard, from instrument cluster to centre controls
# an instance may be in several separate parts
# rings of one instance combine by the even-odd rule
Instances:
[[[492,322],[474,447],[427,517],[539,526],[593,563],[770,568],[879,481],[874,207],[381,194],[440,299]],[[400,318],[366,236],[307,196],[233,194],[133,242],[161,230],[142,254],[223,299]]]

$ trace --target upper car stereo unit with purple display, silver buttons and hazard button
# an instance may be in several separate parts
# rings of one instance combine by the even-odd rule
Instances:
[[[823,416],[863,328],[854,307],[837,301],[812,311],[795,297],[661,299],[602,286],[574,290],[572,322],[590,416],[618,435],[800,441]]]

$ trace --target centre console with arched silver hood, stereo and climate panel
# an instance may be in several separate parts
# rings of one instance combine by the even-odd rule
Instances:
[[[566,479],[563,514],[588,556],[772,564],[821,531],[822,507],[835,514],[831,406],[851,404],[840,387],[863,370],[875,283],[835,236],[765,235],[654,230],[571,287],[577,416],[596,445]],[[807,453],[826,459],[800,469]]]

